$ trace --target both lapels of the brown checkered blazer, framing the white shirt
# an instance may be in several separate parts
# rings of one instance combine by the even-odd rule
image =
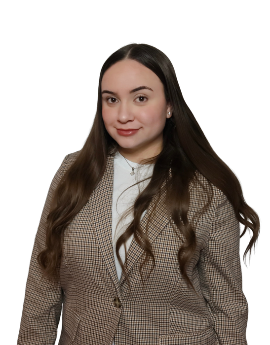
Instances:
[[[164,185],[164,183],[163,183]],[[116,273],[116,265],[112,243],[112,202],[113,202],[113,189],[114,189],[114,156],[108,156],[105,173],[103,174],[99,184],[92,192],[88,206],[93,219],[96,238],[100,247],[104,263],[111,275],[118,295],[120,296],[120,284],[125,280],[122,274],[120,281],[118,281]],[[150,217],[154,208],[154,203],[157,196],[151,201],[143,219],[141,220],[141,229],[146,231],[148,224],[148,237],[152,243],[158,234],[164,229],[169,222],[169,217],[166,213],[164,200],[164,192],[161,193],[160,200],[155,210],[155,216]],[[140,256],[143,254],[143,249],[133,238],[127,252],[126,262],[124,264],[127,274],[131,271],[135,263],[138,262]]]

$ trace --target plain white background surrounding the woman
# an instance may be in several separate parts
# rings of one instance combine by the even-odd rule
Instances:
[[[3,0],[0,4],[1,343],[16,344],[49,184],[88,136],[100,69],[128,43],[172,61],[187,104],[238,176],[261,235],[247,267],[249,345],[269,341],[269,1]],[[249,240],[241,240],[241,255]]]

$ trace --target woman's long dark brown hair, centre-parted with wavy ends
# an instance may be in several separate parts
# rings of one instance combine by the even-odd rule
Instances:
[[[186,269],[193,257],[196,238],[193,226],[188,220],[188,210],[189,186],[195,179],[196,172],[205,176],[206,180],[228,197],[238,221],[244,225],[241,236],[248,228],[252,231],[244,257],[255,245],[260,222],[257,213],[246,204],[237,177],[214,152],[184,101],[170,60],[160,50],[148,44],[133,43],[118,49],[106,60],[101,69],[94,123],[76,161],[62,177],[55,190],[51,211],[47,217],[46,249],[39,254],[39,264],[47,276],[55,277],[61,262],[64,230],[86,204],[99,183],[105,171],[108,155],[117,149],[117,143],[106,131],[102,119],[101,81],[105,71],[123,59],[136,60],[159,77],[164,87],[165,98],[172,106],[173,115],[166,120],[163,149],[154,157],[153,176],[135,201],[134,219],[116,242],[116,255],[123,274],[127,277],[119,256],[119,248],[134,234],[135,240],[145,252],[141,270],[150,258],[153,259],[152,269],[154,268],[154,254],[147,232],[143,233],[140,229],[140,219],[154,196],[159,196],[161,189],[165,188],[172,221],[177,231],[185,238],[178,252],[180,270],[186,281],[192,285]],[[205,188],[205,191],[209,204],[211,188]]]

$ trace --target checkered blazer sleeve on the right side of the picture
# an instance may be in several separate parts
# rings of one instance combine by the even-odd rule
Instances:
[[[211,232],[198,265],[216,345],[247,344],[248,305],[242,292],[239,240],[239,222],[233,207],[218,191]]]

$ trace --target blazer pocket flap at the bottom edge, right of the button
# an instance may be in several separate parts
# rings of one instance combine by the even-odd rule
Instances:
[[[159,336],[158,345],[215,345],[216,335],[212,327],[201,332],[165,334]]]

